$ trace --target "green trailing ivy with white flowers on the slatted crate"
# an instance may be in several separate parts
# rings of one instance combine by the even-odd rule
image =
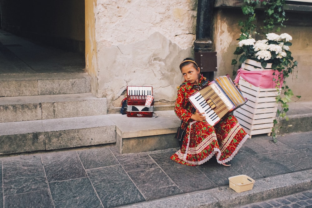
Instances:
[[[242,12],[246,15],[245,21],[239,21],[238,25],[241,27],[241,35],[237,39],[238,47],[234,51],[237,55],[236,59],[232,60],[234,65],[233,75],[236,75],[235,65],[243,63],[247,59],[261,62],[261,66],[266,68],[268,63],[272,64],[272,69],[279,72],[278,78],[273,81],[276,83],[276,102],[280,104],[280,109],[277,110],[277,116],[274,119],[274,126],[272,128],[272,138],[276,142],[276,135],[278,130],[278,120],[286,119],[286,112],[288,109],[288,102],[293,97],[292,90],[286,85],[286,78],[293,73],[297,67],[297,61],[291,55],[290,46],[292,37],[287,34],[272,33],[276,27],[275,32],[280,31],[280,27],[285,27],[284,21],[285,12],[283,6],[285,0],[244,0],[245,4],[241,7]],[[263,26],[260,27],[261,33],[256,32],[256,6],[262,5],[264,9]],[[252,36],[258,34],[265,37],[263,40],[256,40]],[[239,60],[237,61],[239,57]],[[273,73],[275,75],[275,73]],[[276,77],[276,76],[275,76]],[[300,96],[296,96],[298,99]]]

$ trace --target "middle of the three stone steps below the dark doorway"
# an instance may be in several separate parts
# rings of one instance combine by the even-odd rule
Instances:
[[[0,97],[0,123],[105,115],[106,104],[91,93]]]

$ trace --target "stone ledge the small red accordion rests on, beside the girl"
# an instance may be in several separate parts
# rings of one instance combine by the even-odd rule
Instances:
[[[173,110],[154,113],[157,115],[156,118],[131,118],[122,114],[108,114],[116,125],[116,146],[120,153],[144,152],[179,146],[174,136],[181,120]]]

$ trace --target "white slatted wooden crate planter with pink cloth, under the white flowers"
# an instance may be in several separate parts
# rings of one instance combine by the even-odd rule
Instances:
[[[261,65],[258,66],[261,67]],[[269,70],[254,68],[253,66],[244,63],[242,64],[242,68],[252,71]],[[252,135],[257,134],[267,133],[270,135],[277,111],[276,89],[256,87],[242,77],[240,77],[239,85],[242,94],[248,99],[248,101],[245,105],[233,112],[234,116],[236,116],[246,133],[250,135],[250,138]]]

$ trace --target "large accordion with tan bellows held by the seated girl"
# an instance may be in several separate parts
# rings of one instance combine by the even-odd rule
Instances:
[[[229,75],[220,76],[207,87],[189,97],[191,104],[206,117],[207,123],[214,126],[225,115],[247,102]]]

